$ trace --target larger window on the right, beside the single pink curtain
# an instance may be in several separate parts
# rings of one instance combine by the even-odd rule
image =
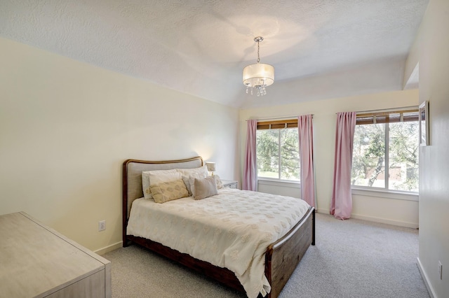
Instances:
[[[418,111],[357,115],[351,184],[373,189],[419,189]]]

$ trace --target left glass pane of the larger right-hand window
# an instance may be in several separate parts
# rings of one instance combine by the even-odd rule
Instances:
[[[356,125],[351,184],[385,187],[385,125]]]

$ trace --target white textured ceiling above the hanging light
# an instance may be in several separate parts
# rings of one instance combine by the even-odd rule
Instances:
[[[429,0],[0,0],[0,36],[229,106],[401,90]],[[275,68],[264,97],[241,72]]]

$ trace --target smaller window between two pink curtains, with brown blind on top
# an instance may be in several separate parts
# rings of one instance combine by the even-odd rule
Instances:
[[[297,120],[258,122],[257,176],[300,181]]]

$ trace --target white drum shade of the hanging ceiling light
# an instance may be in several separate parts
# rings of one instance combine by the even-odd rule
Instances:
[[[274,83],[274,67],[269,64],[255,63],[243,69],[243,85],[264,87]]]

